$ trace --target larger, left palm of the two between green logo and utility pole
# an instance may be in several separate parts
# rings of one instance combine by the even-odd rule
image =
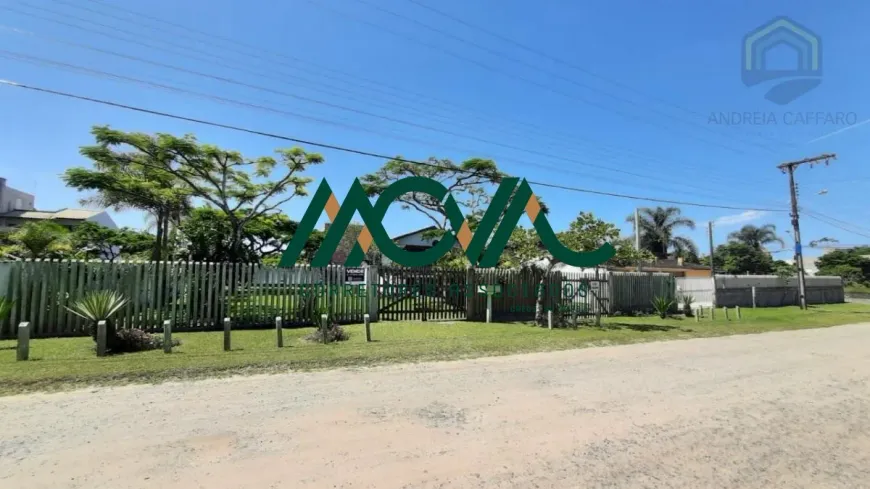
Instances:
[[[625,220],[633,223],[634,214]],[[683,217],[679,207],[641,209],[640,247],[651,251],[656,258],[667,258],[671,250],[679,255],[697,255],[698,247],[691,239],[675,235],[675,231],[682,227],[695,229],[695,221]]]

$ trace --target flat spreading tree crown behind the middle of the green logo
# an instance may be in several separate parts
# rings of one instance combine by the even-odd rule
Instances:
[[[401,157],[400,157],[401,158]],[[370,197],[378,196],[393,182],[408,177],[426,177],[441,182],[467,216],[478,219],[491,200],[488,186],[504,177],[492,160],[472,158],[457,165],[450,160],[429,158],[433,166],[398,159],[390,160],[378,171],[363,175],[360,182]],[[407,193],[397,199],[402,209],[423,214],[440,230],[449,227],[447,211],[441,201],[429,194]]]

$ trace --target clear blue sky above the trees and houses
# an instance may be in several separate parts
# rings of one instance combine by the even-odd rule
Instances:
[[[532,9],[520,0],[416,1],[548,56],[409,0],[31,0],[24,5],[3,2],[16,11],[3,11],[0,50],[275,110],[218,103],[20,60],[2,59],[0,78],[414,159],[489,157],[505,171],[529,180],[746,208],[785,209],[787,179],[776,165],[834,152],[839,159],[829,167],[798,171],[801,205],[861,226],[859,231],[870,236],[865,204],[870,168],[864,143],[870,124],[814,141],[848,125],[794,123],[797,114],[804,113],[839,112],[848,114],[850,122],[870,119],[870,98],[864,96],[870,86],[870,69],[864,62],[870,47],[870,32],[863,25],[870,13],[866,2],[840,1],[831,7],[803,0],[542,0]],[[243,44],[203,39],[107,5]],[[746,87],[740,74],[743,36],[781,15],[822,39],[824,70],[818,88],[786,106],[765,100],[764,87]],[[117,39],[130,34],[151,46]],[[789,50],[778,49],[771,53],[769,65],[787,68],[794,59]],[[70,166],[88,164],[78,147],[91,142],[89,128],[94,124],[194,133],[203,142],[249,157],[288,145],[11,87],[0,87],[0,108],[0,176],[15,188],[35,193],[38,207],[44,209],[75,207],[83,197],[64,187],[58,175]],[[773,117],[776,123],[722,123],[722,113],[745,112],[763,114],[768,121]],[[734,116],[729,118],[733,121]],[[327,163],[307,174],[315,178],[315,185],[327,178],[340,199],[354,177],[383,163],[333,150],[320,152]],[[823,189],[828,192],[819,195]],[[566,227],[578,212],[592,211],[629,233],[625,216],[636,206],[655,205],[550,188],[535,191],[550,205],[550,221],[557,229]],[[306,204],[306,199],[297,198],[283,210],[299,219]],[[682,208],[699,224],[685,234],[705,253],[703,224],[710,220],[718,221],[719,243],[744,223],[774,223],[790,239],[784,233],[790,227],[784,212]],[[139,213],[113,215],[120,225],[144,224]],[[392,234],[424,225],[422,216],[399,209],[386,220]],[[802,233],[805,241],[831,237],[842,243],[870,242],[870,237],[808,217],[802,219]]]

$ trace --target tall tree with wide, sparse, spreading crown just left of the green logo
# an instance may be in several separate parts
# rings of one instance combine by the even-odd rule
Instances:
[[[92,130],[97,143],[104,148],[101,157],[121,168],[141,165],[161,175],[176,179],[190,197],[199,198],[221,213],[229,224],[227,259],[246,258],[244,230],[260,217],[275,213],[279,206],[296,196],[307,195],[310,178],[300,176],[309,165],[322,163],[317,153],[307,153],[299,147],[278,149],[282,173],[267,180],[279,166],[275,158],[264,156],[254,160],[237,151],[228,151],[210,144],[200,144],[193,135],[176,137],[123,132],[108,126]],[[137,157],[117,151],[131,147]]]

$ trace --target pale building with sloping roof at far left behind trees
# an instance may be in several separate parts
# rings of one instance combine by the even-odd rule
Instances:
[[[53,221],[67,229],[74,229],[83,222],[94,222],[115,229],[118,226],[106,211],[92,209],[61,209],[40,211],[35,207],[33,194],[16,190],[0,178],[0,231],[15,229],[22,224],[37,221]]]

